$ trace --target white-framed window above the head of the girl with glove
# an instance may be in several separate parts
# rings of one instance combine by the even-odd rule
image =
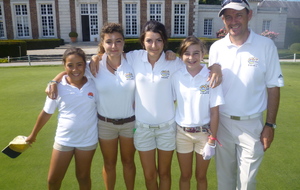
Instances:
[[[174,35],[186,35],[187,4],[174,4]]]

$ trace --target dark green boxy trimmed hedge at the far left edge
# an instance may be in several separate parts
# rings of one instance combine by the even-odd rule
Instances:
[[[27,45],[23,40],[1,40],[0,57],[20,57],[27,55]]]

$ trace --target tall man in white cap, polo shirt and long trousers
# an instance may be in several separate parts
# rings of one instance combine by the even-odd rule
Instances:
[[[222,67],[225,98],[217,133],[223,144],[216,150],[218,188],[250,190],[274,138],[283,76],[273,41],[248,28],[252,10],[246,0],[224,0],[219,16],[228,34],[209,53],[209,64]]]

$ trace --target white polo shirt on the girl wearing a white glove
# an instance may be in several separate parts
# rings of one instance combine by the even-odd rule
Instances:
[[[194,77],[186,67],[172,76],[172,88],[177,100],[176,123],[183,127],[197,127],[210,123],[210,108],[224,104],[222,86],[209,88],[206,65]]]

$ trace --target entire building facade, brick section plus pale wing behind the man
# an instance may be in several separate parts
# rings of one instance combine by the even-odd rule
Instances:
[[[275,43],[284,44],[287,8],[260,5],[250,0],[250,27],[257,33],[280,33]],[[69,32],[78,41],[99,41],[103,24],[122,23],[126,38],[137,38],[147,20],[165,24],[170,37],[215,38],[223,28],[219,5],[199,5],[197,0],[0,0],[0,39],[62,38]]]

